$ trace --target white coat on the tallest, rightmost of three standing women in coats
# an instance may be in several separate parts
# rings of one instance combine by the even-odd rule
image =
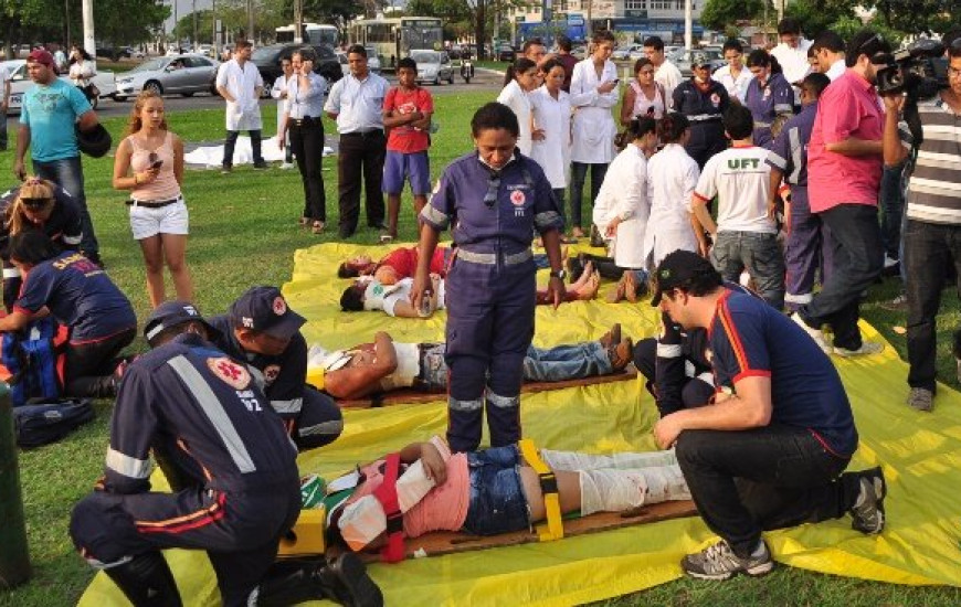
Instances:
[[[614,159],[617,125],[611,108],[617,105],[617,87],[603,95],[598,86],[617,78],[617,67],[604,62],[601,77],[591,57],[578,62],[571,75],[571,106],[574,109],[571,160],[587,164],[606,164]]]

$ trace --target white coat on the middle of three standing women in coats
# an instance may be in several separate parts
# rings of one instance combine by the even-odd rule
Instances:
[[[530,157],[543,169],[555,190],[567,188],[571,166],[571,99],[558,90],[557,99],[546,86],[530,94],[534,126],[543,129],[543,139],[535,141]]]

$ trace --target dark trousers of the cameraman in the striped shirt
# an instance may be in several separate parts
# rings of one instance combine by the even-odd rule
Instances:
[[[937,391],[937,317],[947,268],[953,265],[961,277],[961,226],[908,220],[905,256],[908,296],[908,385]],[[959,280],[961,287],[961,280]],[[961,330],[954,331],[958,343]],[[958,355],[958,352],[954,352]]]

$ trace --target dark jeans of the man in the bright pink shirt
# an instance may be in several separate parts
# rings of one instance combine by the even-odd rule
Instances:
[[[830,323],[834,329],[834,345],[857,350],[862,345],[857,328],[860,297],[880,275],[884,265],[877,209],[869,204],[842,203],[822,212],[821,219],[831,231],[834,266],[821,292],[799,311],[810,327]]]

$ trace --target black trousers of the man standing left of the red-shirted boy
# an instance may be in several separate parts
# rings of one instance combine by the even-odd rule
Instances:
[[[387,138],[382,130],[366,134],[348,132],[340,136],[337,157],[338,194],[340,196],[340,237],[347,238],[357,231],[360,219],[360,178],[363,173],[365,210],[367,224],[383,225],[384,206],[381,182],[383,160],[387,156]]]

